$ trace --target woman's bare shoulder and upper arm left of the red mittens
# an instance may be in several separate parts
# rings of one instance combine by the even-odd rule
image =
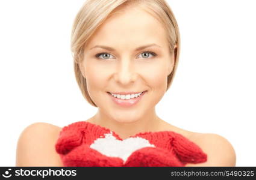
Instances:
[[[60,130],[46,122],[28,125],[17,141],[16,166],[63,166],[55,152]]]

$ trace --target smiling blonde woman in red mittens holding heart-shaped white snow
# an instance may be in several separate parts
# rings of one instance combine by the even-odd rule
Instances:
[[[236,165],[223,137],[183,130],[155,112],[180,54],[178,25],[166,2],[86,1],[71,46],[78,85],[98,112],[64,128],[27,127],[17,166]]]

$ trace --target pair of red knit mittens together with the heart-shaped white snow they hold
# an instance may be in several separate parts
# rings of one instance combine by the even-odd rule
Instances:
[[[184,166],[207,160],[195,143],[173,131],[137,133],[122,140],[86,121],[64,127],[55,149],[64,166]]]

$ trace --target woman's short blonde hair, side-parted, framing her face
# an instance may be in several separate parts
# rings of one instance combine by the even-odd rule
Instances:
[[[152,16],[160,20],[167,32],[170,53],[175,53],[175,63],[172,73],[167,77],[167,89],[169,89],[178,66],[180,56],[180,32],[175,16],[169,5],[164,0],[87,0],[75,17],[71,35],[71,51],[74,60],[75,77],[81,92],[86,100],[96,106],[87,91],[86,79],[83,77],[79,63],[83,59],[84,47],[92,37],[96,29],[104,23],[111,14],[117,10],[123,10],[129,5],[141,5],[141,7],[151,13]],[[176,48],[174,49],[176,45]]]

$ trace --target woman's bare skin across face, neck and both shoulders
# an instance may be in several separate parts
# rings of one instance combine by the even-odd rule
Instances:
[[[156,115],[155,105],[166,92],[167,76],[172,72],[174,62],[165,33],[157,19],[135,7],[116,12],[98,28],[88,41],[80,64],[90,97],[98,106],[96,115],[87,121],[109,128],[122,139],[145,131],[174,131],[196,143],[207,154],[205,163],[186,166],[236,166],[234,148],[222,136],[183,130]],[[152,43],[160,47],[134,51]],[[116,50],[91,50],[96,45]],[[146,51],[157,56],[149,53],[145,57],[142,54]],[[101,55],[97,59],[97,53],[110,53],[110,56],[104,59],[106,55]],[[120,107],[113,103],[108,91],[148,92],[138,104]],[[25,128],[17,143],[16,166],[63,166],[54,149],[61,129],[43,122]]]

